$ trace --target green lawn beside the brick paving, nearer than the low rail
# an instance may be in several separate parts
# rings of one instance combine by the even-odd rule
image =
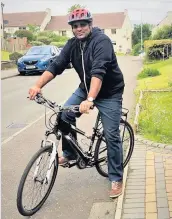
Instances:
[[[145,94],[139,131],[152,141],[172,144],[172,92]]]

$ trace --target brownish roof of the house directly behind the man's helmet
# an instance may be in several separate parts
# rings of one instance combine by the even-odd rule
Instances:
[[[102,29],[122,28],[125,19],[125,12],[93,14],[93,25]],[[67,23],[68,16],[52,16],[46,30],[67,30],[70,26]]]

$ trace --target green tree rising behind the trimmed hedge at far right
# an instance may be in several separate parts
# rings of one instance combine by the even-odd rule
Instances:
[[[172,25],[165,25],[162,28],[158,29],[152,39],[172,39]]]

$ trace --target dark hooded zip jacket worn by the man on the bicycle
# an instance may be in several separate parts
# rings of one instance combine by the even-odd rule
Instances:
[[[112,42],[99,28],[93,28],[83,49],[83,58],[88,91],[91,77],[94,76],[103,81],[98,97],[107,98],[117,92],[123,92],[123,74],[118,66]],[[66,43],[60,55],[51,63],[47,71],[54,76],[60,75],[69,62],[72,63],[80,77],[80,87],[86,92],[81,44],[75,37]]]

